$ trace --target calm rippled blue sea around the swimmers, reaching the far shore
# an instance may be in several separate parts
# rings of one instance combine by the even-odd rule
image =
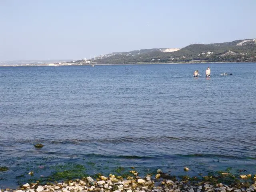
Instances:
[[[1,67],[0,187],[66,163],[255,174],[255,85],[255,63]]]

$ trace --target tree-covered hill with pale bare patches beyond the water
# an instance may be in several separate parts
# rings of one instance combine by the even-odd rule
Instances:
[[[136,64],[175,62],[255,62],[256,39],[225,43],[191,44],[182,49],[154,48],[114,52],[90,60],[94,64]],[[76,61],[85,64],[86,61]],[[88,64],[88,61],[87,61]]]

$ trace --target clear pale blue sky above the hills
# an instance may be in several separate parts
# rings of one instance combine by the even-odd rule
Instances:
[[[0,60],[256,38],[256,0],[0,0]]]

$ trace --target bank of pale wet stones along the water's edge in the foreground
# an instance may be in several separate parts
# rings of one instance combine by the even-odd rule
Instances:
[[[160,172],[160,171],[158,171]],[[161,172],[162,173],[162,172]],[[24,184],[17,190],[1,190],[2,192],[256,192],[256,182],[250,185],[227,186],[222,183],[212,184],[201,181],[190,183],[188,180],[172,181],[147,175],[122,178],[110,174],[109,177],[99,176],[76,179],[66,183],[39,185],[38,183]],[[156,184],[157,183],[157,184]]]

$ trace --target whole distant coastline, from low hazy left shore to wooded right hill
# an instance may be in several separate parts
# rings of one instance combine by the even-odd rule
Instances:
[[[213,44],[190,44],[184,48],[152,48],[112,52],[80,60],[0,61],[0,66],[72,66],[123,64],[256,62],[256,38]]]

